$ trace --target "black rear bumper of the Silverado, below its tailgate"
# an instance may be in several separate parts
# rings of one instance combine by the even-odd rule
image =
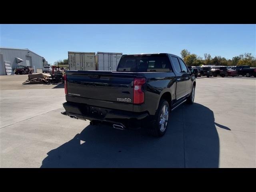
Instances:
[[[62,113],[81,120],[90,120],[97,123],[118,124],[124,128],[137,129],[148,122],[148,112],[130,112],[90,106],[87,104],[65,102],[65,112]]]

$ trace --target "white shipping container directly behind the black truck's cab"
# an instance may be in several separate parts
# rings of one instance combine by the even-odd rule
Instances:
[[[97,52],[96,70],[115,71],[121,57],[122,53]]]

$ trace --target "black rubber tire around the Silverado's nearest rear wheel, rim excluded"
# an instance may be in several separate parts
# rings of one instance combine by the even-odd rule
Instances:
[[[167,124],[166,127],[164,128],[164,130],[161,130],[161,126],[160,126],[160,119],[161,119],[161,114],[162,114],[162,110],[164,108],[164,106],[168,106],[168,120],[169,120],[169,116],[170,116],[170,106],[169,103],[164,100],[161,99],[158,105],[158,110],[156,111],[156,114],[154,116],[154,123],[152,125],[150,125],[150,129],[149,132],[152,136],[154,137],[161,137],[165,134],[167,127],[168,127],[168,120],[167,120]]]

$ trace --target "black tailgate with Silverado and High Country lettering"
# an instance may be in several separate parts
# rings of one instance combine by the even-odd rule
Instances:
[[[70,101],[81,103],[94,100],[95,106],[133,110],[133,73],[111,71],[67,71],[67,90]],[[75,99],[76,98],[76,99]],[[104,107],[102,106],[102,107]]]

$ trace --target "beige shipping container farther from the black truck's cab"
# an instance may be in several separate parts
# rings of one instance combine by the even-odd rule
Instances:
[[[95,52],[68,52],[69,70],[96,70]]]

